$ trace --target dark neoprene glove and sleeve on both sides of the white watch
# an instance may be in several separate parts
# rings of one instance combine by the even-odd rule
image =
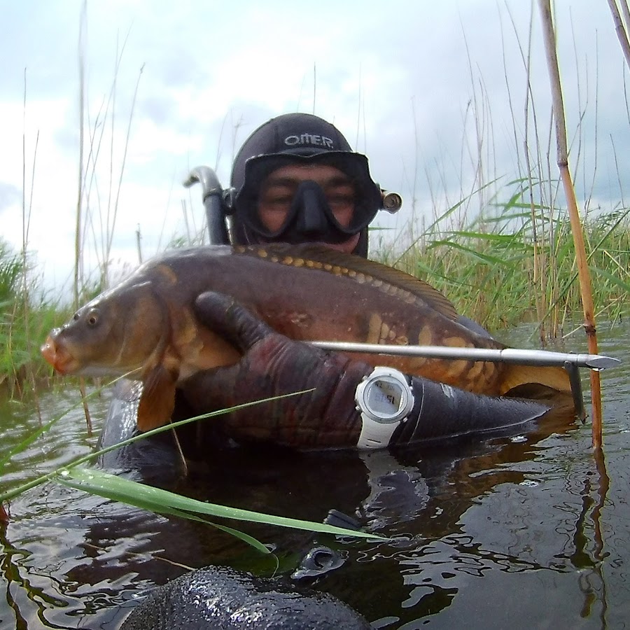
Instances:
[[[221,293],[195,302],[200,323],[229,339],[243,356],[229,367],[198,372],[181,384],[199,414],[245,402],[313,389],[263,402],[223,417],[235,440],[264,440],[300,449],[356,447],[362,421],[356,386],[373,367],[339,353],[295,342]],[[519,430],[549,407],[533,400],[483,396],[414,377],[415,404],[390,444],[442,440],[454,435]]]

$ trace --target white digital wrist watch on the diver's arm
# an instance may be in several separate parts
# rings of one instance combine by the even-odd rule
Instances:
[[[391,367],[375,367],[358,384],[354,395],[361,412],[359,449],[382,449],[414,407],[414,395],[405,374]]]

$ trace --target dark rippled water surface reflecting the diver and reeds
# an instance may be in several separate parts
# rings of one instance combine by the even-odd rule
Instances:
[[[532,347],[528,331],[511,335]],[[581,335],[580,335],[581,336]],[[581,339],[580,339],[581,342]],[[570,342],[567,349],[583,351]],[[313,545],[342,566],[315,587],[375,628],[624,628],[630,625],[630,327],[600,325],[600,350],[625,363],[604,372],[604,454],[587,422],[544,423],[397,453],[230,453],[191,474],[183,493],[214,503],[321,521],[335,508],[389,542],[238,525],[290,574]],[[584,377],[586,377],[584,372]],[[586,386],[588,398],[588,386]],[[44,419],[76,404],[46,395]],[[106,398],[92,405],[97,423]],[[29,405],[0,405],[0,449],[38,426]],[[0,491],[94,448],[79,410],[8,464]],[[607,473],[607,475],[606,475]],[[609,479],[609,481],[608,481]],[[0,628],[111,629],[146,589],[220,564],[272,575],[274,562],[202,524],[146,514],[54,483],[13,500],[0,528]],[[230,523],[232,524],[232,523]]]

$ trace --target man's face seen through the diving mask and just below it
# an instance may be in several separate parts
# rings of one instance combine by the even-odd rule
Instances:
[[[354,212],[356,189],[351,179],[339,169],[323,164],[287,165],[276,169],[265,178],[258,197],[258,215],[263,225],[276,232],[286,221],[297,187],[303,181],[314,181],[320,186],[335,215],[344,227],[350,225]],[[333,249],[350,253],[356,247],[359,235],[353,235],[338,244],[325,243]]]

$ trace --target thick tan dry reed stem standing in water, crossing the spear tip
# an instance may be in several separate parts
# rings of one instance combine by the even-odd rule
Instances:
[[[584,310],[584,330],[587,335],[589,353],[597,354],[597,335],[595,327],[595,309],[593,294],[591,291],[591,275],[584,248],[584,235],[580,213],[577,210],[575,190],[568,168],[568,151],[566,143],[566,123],[564,119],[564,104],[560,83],[560,70],[556,55],[556,37],[552,21],[551,6],[549,0],[538,0],[542,17],[543,41],[547,54],[547,66],[549,69],[549,81],[551,83],[553,113],[556,127],[556,155],[557,165],[566,195],[569,212],[573,244],[575,245],[575,258],[577,262],[577,275],[580,281],[580,293],[582,295],[582,309]],[[591,370],[591,404],[593,410],[593,437],[592,444],[595,449],[601,449],[601,386],[599,372]]]

